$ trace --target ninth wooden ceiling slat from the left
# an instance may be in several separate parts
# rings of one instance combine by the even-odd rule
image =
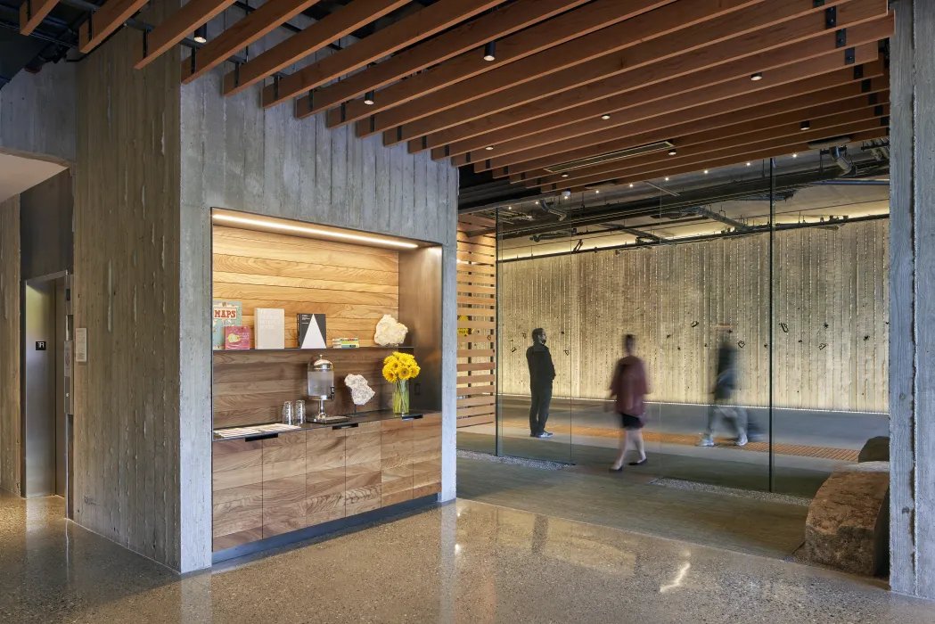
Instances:
[[[805,1],[797,0],[799,3]],[[583,83],[583,80],[561,80],[554,75],[572,65],[576,65],[574,69],[578,69],[582,64],[596,59],[607,60],[612,66],[610,71],[622,71],[619,55],[614,54],[611,58],[608,54],[636,46],[646,39],[712,20],[738,7],[749,7],[761,2],[763,0],[691,0],[688,3],[676,2],[664,7],[659,7],[662,3],[658,0],[618,2],[617,10],[624,18],[620,22],[590,36],[578,37],[539,51],[522,61],[500,65],[478,76],[461,80],[435,91],[431,97],[420,97],[405,105],[377,113],[372,118],[372,123],[367,121],[358,124],[358,136],[367,137],[385,132],[448,109],[456,108],[470,114],[478,104],[475,100],[496,102],[497,106],[509,108],[508,102],[511,98],[523,97],[533,91],[549,94],[572,89],[576,84]],[[812,6],[811,0],[809,6]],[[628,59],[629,54],[625,58]],[[573,70],[568,69],[565,74],[568,72]],[[575,75],[577,76],[577,73]],[[526,83],[533,84],[523,86]],[[537,90],[534,85],[540,89]],[[404,136],[407,131],[408,127],[404,128]]]

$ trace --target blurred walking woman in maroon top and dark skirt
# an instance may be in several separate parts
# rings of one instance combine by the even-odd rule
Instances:
[[[611,381],[614,409],[620,414],[622,426],[626,429],[626,436],[620,440],[620,453],[613,462],[611,471],[623,470],[627,446],[633,446],[640,453],[640,459],[631,461],[630,466],[646,463],[646,446],[642,439],[642,428],[646,424],[646,406],[643,398],[649,394],[649,383],[646,381],[646,367],[639,357],[633,355],[636,342],[633,334],[626,334],[626,356],[617,362]]]

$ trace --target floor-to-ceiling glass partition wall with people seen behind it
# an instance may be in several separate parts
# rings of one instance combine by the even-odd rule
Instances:
[[[701,204],[655,181],[625,218],[585,228],[516,237],[501,210],[496,452],[607,472],[626,334],[650,385],[648,462],[628,476],[812,496],[885,436],[888,189],[802,182],[795,165],[751,163]],[[536,328],[551,388],[530,378]],[[535,437],[550,389],[552,436]]]

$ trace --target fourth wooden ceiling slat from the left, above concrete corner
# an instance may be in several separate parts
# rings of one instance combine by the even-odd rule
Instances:
[[[221,65],[229,56],[243,50],[253,42],[273,32],[281,24],[311,7],[318,0],[269,0],[257,7],[239,22],[235,22],[221,35],[214,37],[192,57],[181,62],[181,81],[188,84]]]

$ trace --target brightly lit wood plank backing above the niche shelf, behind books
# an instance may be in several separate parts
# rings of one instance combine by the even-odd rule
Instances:
[[[287,349],[298,346],[298,312],[325,314],[328,344],[344,337],[361,346],[374,346],[383,314],[399,316],[396,250],[219,225],[212,231],[214,298],[240,301],[248,327],[255,308],[285,310]]]

